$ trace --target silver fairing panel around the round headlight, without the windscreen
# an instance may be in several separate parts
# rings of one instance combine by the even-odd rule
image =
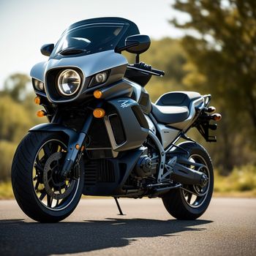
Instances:
[[[87,56],[70,56],[62,59],[48,59],[48,61],[40,62],[31,69],[31,78],[37,79],[45,83],[45,94],[48,100],[52,103],[58,102],[70,102],[81,94],[86,93],[90,78],[93,75],[102,72],[104,70],[113,70],[115,78],[110,73],[110,78],[107,82],[120,80],[124,77],[124,73],[127,67],[127,59],[119,53],[115,53],[114,50],[107,50],[101,53],[94,53]],[[82,86],[75,97],[56,97],[51,93],[56,84],[49,82],[48,75],[53,70],[63,69],[78,69],[83,77]],[[84,96],[84,95],[83,95]]]

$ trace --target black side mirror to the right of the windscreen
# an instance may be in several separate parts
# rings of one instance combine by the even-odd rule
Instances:
[[[144,34],[135,34],[125,39],[125,50],[129,53],[144,53],[150,46],[150,38]]]

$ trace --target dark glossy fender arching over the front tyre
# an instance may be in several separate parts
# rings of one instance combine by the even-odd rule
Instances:
[[[29,132],[62,132],[64,135],[68,136],[69,144],[78,138],[78,132],[75,132],[73,129],[68,127],[64,127],[62,124],[56,123],[38,124],[29,129]]]

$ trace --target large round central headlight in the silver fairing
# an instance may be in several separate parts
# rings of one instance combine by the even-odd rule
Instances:
[[[73,69],[66,69],[59,75],[58,89],[59,92],[65,96],[75,94],[80,88],[80,84],[80,75]]]

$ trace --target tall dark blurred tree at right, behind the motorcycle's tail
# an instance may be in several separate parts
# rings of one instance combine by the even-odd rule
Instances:
[[[189,15],[184,23],[170,21],[186,33],[181,44],[189,73],[183,82],[211,93],[222,113],[213,158],[223,173],[255,163],[256,1],[177,0],[173,7]]]

